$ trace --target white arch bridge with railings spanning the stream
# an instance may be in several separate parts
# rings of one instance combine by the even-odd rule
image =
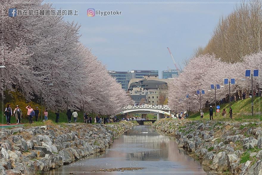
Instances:
[[[142,114],[142,117],[144,118],[143,114],[149,114],[149,113],[156,113],[157,114],[157,119],[160,118],[165,118],[165,115],[169,115],[170,116],[170,111],[171,109],[166,106],[153,106],[153,105],[138,105],[138,106],[124,106],[121,107],[119,114],[125,114],[125,113],[129,113],[129,114],[135,114],[135,113],[140,113]]]

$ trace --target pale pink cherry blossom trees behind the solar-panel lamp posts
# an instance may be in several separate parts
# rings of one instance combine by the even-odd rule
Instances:
[[[199,55],[192,58],[180,75],[169,83],[168,104],[172,109],[187,109],[190,106],[193,111],[200,109],[200,97],[196,95],[197,90],[205,90],[202,95],[202,106],[206,101],[213,103],[214,91],[210,90],[210,84],[220,84],[221,89],[216,90],[216,100],[227,97],[229,94],[228,85],[223,85],[224,78],[236,78],[236,84],[231,85],[231,94],[243,89],[251,89],[250,77],[245,77],[246,69],[260,69],[261,73],[262,53],[254,53],[243,58],[243,62],[226,63],[216,58],[215,55]],[[245,79],[245,80],[243,80]],[[253,88],[258,89],[261,76],[253,78]],[[190,98],[185,98],[189,94]],[[186,100],[184,100],[186,99]]]

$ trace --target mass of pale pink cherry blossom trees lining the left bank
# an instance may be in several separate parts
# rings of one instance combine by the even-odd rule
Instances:
[[[32,0],[5,1],[4,11],[53,9]],[[106,67],[80,41],[80,25],[61,16],[4,16],[4,86],[22,92],[27,100],[43,94],[50,109],[69,108],[115,114],[130,97]],[[1,53],[2,54],[2,53]],[[49,84],[53,84],[49,86]]]

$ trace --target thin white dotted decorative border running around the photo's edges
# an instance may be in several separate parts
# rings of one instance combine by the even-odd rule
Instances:
[[[4,3],[4,2],[3,2]],[[9,2],[9,3],[15,3],[15,4],[36,4],[39,2]],[[242,4],[242,3],[246,3],[246,2],[48,2],[48,1],[44,1],[44,3],[51,3],[51,4]],[[257,2],[248,2],[248,3],[253,3],[256,4]],[[258,15],[258,23],[259,23],[259,28],[258,28],[258,51],[261,50],[260,47],[260,31],[261,31],[261,4],[258,4],[259,6],[259,15]],[[4,65],[4,5],[2,6],[2,14],[1,14],[1,64]],[[258,69],[261,70],[261,61],[262,58],[259,59],[259,64],[258,64]],[[260,73],[261,75],[261,73]],[[258,89],[261,90],[261,76],[259,76],[258,79]],[[4,68],[1,69],[1,106],[2,106],[2,111],[4,111]],[[258,120],[259,120],[259,127],[258,130],[261,130],[261,121],[260,121],[260,117],[261,117],[261,100],[260,98],[258,99]],[[1,129],[3,128],[4,124],[4,115],[2,115],[1,117]],[[258,135],[258,145],[260,145],[260,138],[261,138],[261,133],[259,133]],[[1,140],[2,140],[2,135],[1,135]],[[2,145],[3,147],[3,145]],[[259,150],[261,150],[261,148],[259,148]],[[259,160],[261,159],[261,156],[259,155]],[[3,165],[3,158],[1,158],[1,165]],[[259,171],[261,168],[261,163],[259,164]],[[244,173],[259,173],[258,172],[253,172],[253,171],[243,171]],[[242,171],[241,171],[242,172]],[[39,173],[39,172],[27,172],[27,173]],[[174,173],[174,174],[188,174],[188,173],[229,173],[229,172],[222,172],[222,171],[132,171],[132,172],[128,172],[128,171],[106,171],[106,172],[88,172],[88,171],[54,171],[52,173]],[[240,172],[231,172],[231,173],[240,173]]]

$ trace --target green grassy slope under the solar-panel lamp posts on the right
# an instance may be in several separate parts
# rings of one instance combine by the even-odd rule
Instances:
[[[258,120],[259,119],[259,100],[260,100],[260,106],[262,106],[262,97],[255,97],[254,98],[254,116],[252,117],[252,111],[251,111],[251,98],[245,99],[245,100],[239,100],[231,102],[231,108],[233,110],[233,119],[237,121],[242,120]],[[215,112],[213,112],[213,119],[221,120],[221,121],[228,121],[231,120],[229,117],[229,103],[225,103],[220,106],[220,112],[217,113],[215,116]],[[227,116],[224,118],[222,116],[222,110],[226,109]],[[215,107],[213,107],[213,110],[215,111]],[[209,108],[205,108],[204,110],[204,117],[203,120],[209,120]],[[200,112],[192,113],[189,120],[201,120],[200,119]],[[262,121],[262,118],[260,119]]]

